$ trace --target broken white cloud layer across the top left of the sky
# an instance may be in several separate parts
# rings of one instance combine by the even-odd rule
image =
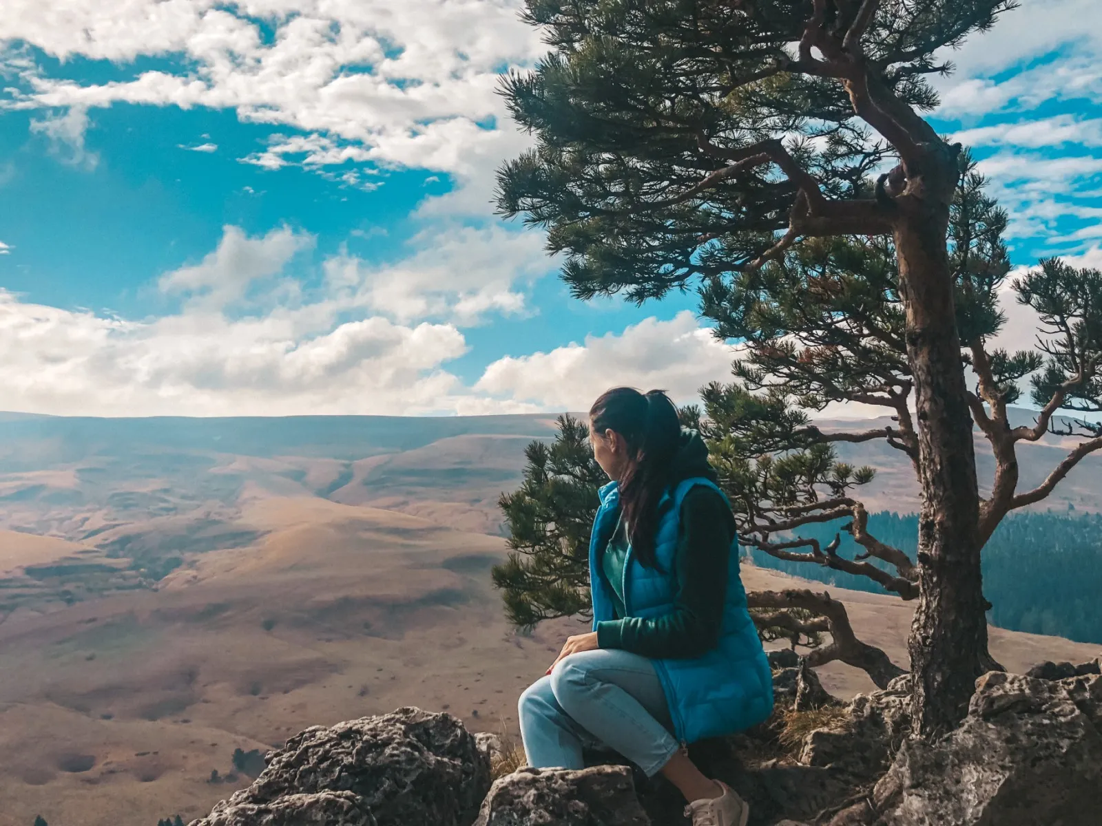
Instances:
[[[519,0],[250,0],[240,7],[214,0],[12,0],[8,6],[0,42],[23,41],[62,61],[184,57],[176,68],[102,84],[65,77],[64,64],[47,73],[24,57],[23,85],[9,93],[9,106],[77,112],[66,127],[71,137],[86,124],[89,108],[118,101],[231,108],[245,121],[302,130],[301,138],[249,156],[269,169],[305,152],[300,163],[315,169],[401,165],[469,181],[485,170],[476,170],[472,159],[491,154],[496,163],[504,156],[503,133],[514,131],[487,126],[507,121],[496,94],[500,72],[530,65],[544,51],[539,33],[519,18]],[[258,20],[274,36],[262,36]],[[302,145],[290,145],[295,140]],[[486,204],[480,207],[485,211]]]

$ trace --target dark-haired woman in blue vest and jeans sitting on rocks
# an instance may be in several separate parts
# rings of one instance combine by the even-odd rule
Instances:
[[[684,748],[773,710],[707,448],[658,390],[609,390],[590,411],[590,438],[612,479],[590,540],[593,631],[568,639],[520,697],[528,762],[581,769],[583,745],[601,743],[669,779],[693,826],[746,826],[746,803]]]

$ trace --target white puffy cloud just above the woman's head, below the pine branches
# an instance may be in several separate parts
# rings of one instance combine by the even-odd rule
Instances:
[[[701,327],[692,313],[648,318],[622,334],[587,336],[550,352],[495,361],[475,390],[545,410],[588,410],[611,387],[666,390],[678,402],[696,399],[710,381],[731,373],[735,350]]]

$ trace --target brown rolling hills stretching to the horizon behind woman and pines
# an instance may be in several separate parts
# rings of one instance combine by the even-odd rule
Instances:
[[[553,432],[544,416],[0,415],[0,826],[187,819],[248,783],[235,750],[400,705],[511,730],[577,628],[519,635],[489,585],[497,497]],[[875,449],[852,458],[880,464]],[[1062,447],[1028,449],[1039,474]],[[912,509],[909,467],[883,458],[873,507]],[[1067,501],[1102,510],[1099,469],[1076,471]],[[831,593],[905,662],[910,607]],[[992,634],[1012,669],[1098,653]],[[840,695],[871,686],[846,666],[822,676]]]

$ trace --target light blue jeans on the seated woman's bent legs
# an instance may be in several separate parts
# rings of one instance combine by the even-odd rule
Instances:
[[[518,703],[528,764],[583,769],[582,748],[605,747],[658,773],[680,746],[650,660],[614,649],[563,657]]]

